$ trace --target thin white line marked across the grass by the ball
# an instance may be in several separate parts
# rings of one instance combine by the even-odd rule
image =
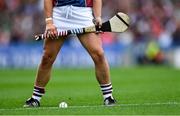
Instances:
[[[116,106],[125,107],[125,106],[158,106],[158,105],[180,105],[179,102],[165,102],[165,103],[142,103],[142,104],[117,104]],[[105,107],[104,105],[89,105],[89,106],[68,106],[68,108],[98,108],[98,107]],[[60,109],[59,107],[39,107],[39,108],[4,108],[0,109],[0,111],[7,111],[7,110],[38,110],[38,109]],[[62,109],[62,108],[61,108]],[[64,108],[67,109],[67,108]]]

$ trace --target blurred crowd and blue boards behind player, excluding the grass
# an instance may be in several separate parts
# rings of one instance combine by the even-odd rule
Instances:
[[[153,63],[180,67],[179,6],[178,0],[103,0],[104,21],[118,11],[131,17],[131,27],[125,33],[102,34],[110,65]],[[42,42],[35,42],[33,37],[44,32],[43,0],[1,0],[0,15],[0,67],[37,67]],[[74,38],[65,43],[56,67],[93,66]]]

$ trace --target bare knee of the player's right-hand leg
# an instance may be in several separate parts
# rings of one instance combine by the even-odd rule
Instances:
[[[104,51],[103,50],[96,50],[92,53],[92,58],[94,63],[102,63],[105,60]]]

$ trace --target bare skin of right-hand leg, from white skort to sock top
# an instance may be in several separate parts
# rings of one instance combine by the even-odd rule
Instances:
[[[101,38],[95,33],[83,34],[78,37],[81,44],[88,51],[94,61],[96,78],[99,84],[109,84],[109,65],[104,56]]]

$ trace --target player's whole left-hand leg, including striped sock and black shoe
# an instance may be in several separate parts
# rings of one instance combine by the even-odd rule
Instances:
[[[40,100],[45,94],[45,86],[49,82],[52,65],[59,53],[65,39],[59,38],[57,40],[45,39],[44,40],[44,51],[41,59],[41,63],[38,68],[33,94],[29,98],[24,107],[39,107]]]

